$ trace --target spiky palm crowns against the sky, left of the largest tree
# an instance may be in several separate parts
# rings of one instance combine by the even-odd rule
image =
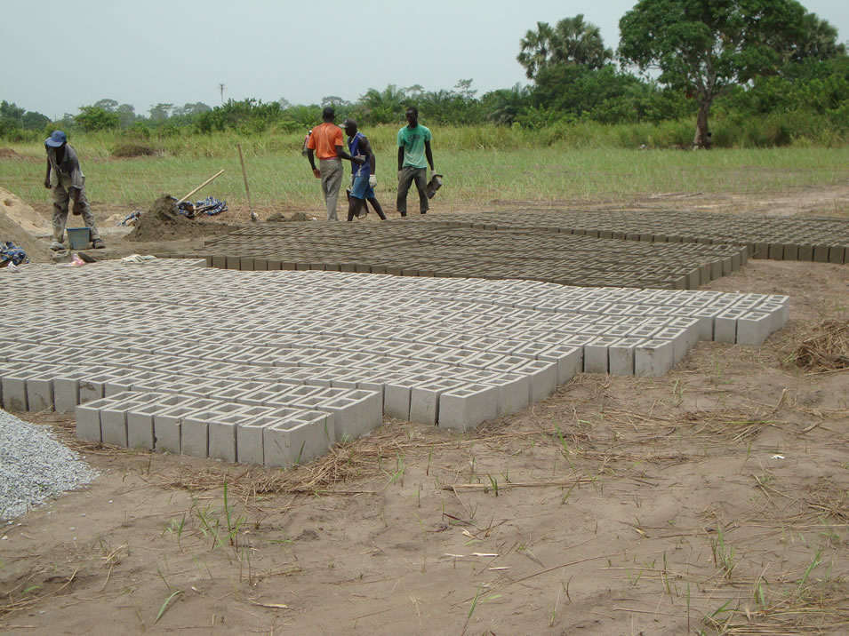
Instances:
[[[560,20],[554,28],[548,22],[537,22],[537,30],[528,31],[519,44],[522,51],[516,59],[529,79],[551,64],[601,68],[613,60],[613,51],[605,49],[599,28],[585,22],[581,13]]]

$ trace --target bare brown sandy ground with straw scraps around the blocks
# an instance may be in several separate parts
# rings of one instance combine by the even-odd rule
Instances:
[[[839,216],[846,189],[771,200]],[[846,633],[849,371],[793,352],[849,319],[849,266],[749,261],[708,289],[789,294],[790,321],[663,378],[578,376],[474,434],[387,419],[292,473],[84,446],[68,417],[17,414],[101,476],[3,529],[0,630]]]

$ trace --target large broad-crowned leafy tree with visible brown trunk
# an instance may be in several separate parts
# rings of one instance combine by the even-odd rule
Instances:
[[[693,146],[706,147],[713,99],[774,72],[805,41],[804,19],[795,0],[640,0],[619,22],[619,55],[697,100]]]

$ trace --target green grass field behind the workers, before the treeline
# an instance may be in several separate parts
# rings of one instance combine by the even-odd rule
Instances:
[[[494,129],[493,129],[494,130]],[[396,186],[396,129],[372,135],[378,198],[391,203]],[[576,147],[556,142],[531,147],[521,131],[483,135],[485,129],[435,131],[437,171],[445,187],[437,205],[485,207],[493,201],[605,201],[689,192],[753,194],[793,187],[830,186],[845,180],[849,147],[714,149],[709,152]],[[367,131],[368,132],[368,131]],[[119,159],[112,134],[71,139],[80,154],[90,200],[147,206],[162,193],[185,195],[221,168],[226,172],[199,195],[231,205],[246,203],[236,143],[247,164],[253,203],[270,210],[320,204],[317,180],[300,155],[299,135],[239,138],[235,134],[149,140],[157,155]],[[499,140],[503,140],[503,147]],[[524,141],[523,141],[524,139]],[[46,203],[44,148],[12,145],[25,159],[0,159],[0,185],[28,203]]]

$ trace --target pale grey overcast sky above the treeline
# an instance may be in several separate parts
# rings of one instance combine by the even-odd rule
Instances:
[[[478,95],[526,83],[519,40],[578,13],[619,44],[636,0],[0,0],[0,99],[51,118],[98,99],[132,104],[255,97],[355,101],[369,88]],[[847,0],[803,0],[849,39]]]

